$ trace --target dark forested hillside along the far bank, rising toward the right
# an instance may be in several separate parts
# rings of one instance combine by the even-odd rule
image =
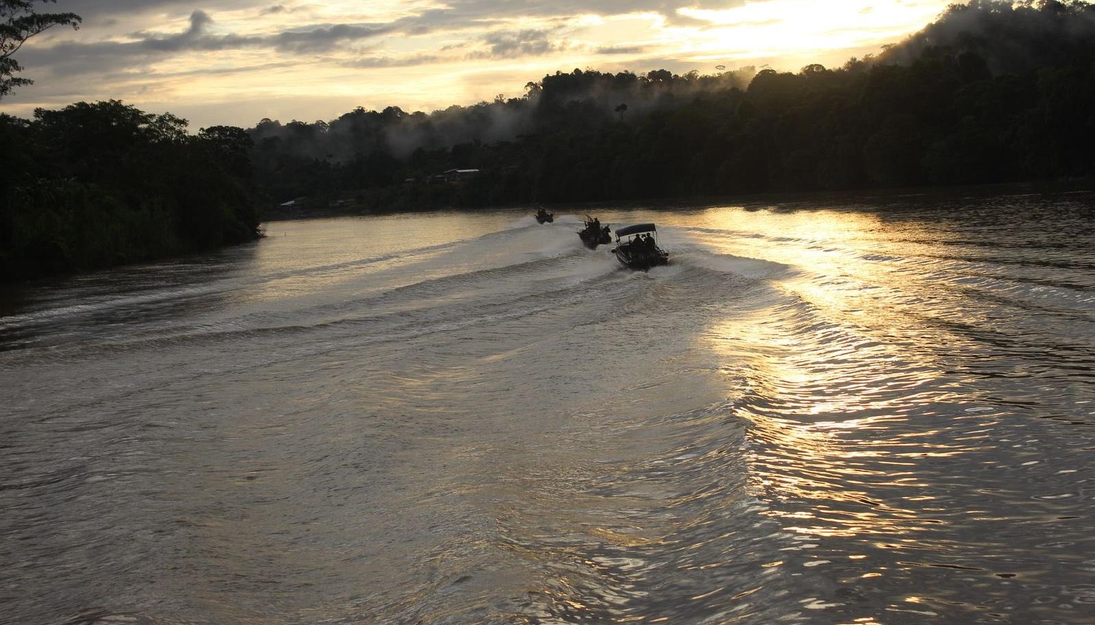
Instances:
[[[838,69],[574,70],[519,99],[263,120],[250,134],[273,200],[380,210],[1086,177],[1095,5],[953,5]],[[480,173],[428,182],[449,169]]]

